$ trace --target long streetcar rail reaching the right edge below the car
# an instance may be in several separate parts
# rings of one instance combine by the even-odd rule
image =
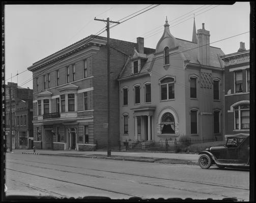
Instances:
[[[20,160],[20,159],[15,159]],[[36,163],[43,163],[48,165],[58,165],[58,166],[66,166],[66,167],[72,167],[72,168],[82,168],[86,170],[92,170],[92,171],[100,171],[100,172],[108,172],[113,174],[123,174],[123,175],[130,175],[130,176],[138,176],[138,177],[145,177],[145,178],[153,178],[153,179],[161,179],[161,180],[167,180],[167,181],[177,181],[177,182],[184,182],[184,183],[195,183],[195,184],[201,184],[201,185],[209,185],[209,186],[216,186],[216,187],[224,187],[224,188],[233,188],[233,189],[241,189],[241,190],[249,190],[247,188],[241,188],[241,187],[234,187],[234,186],[225,186],[225,185],[218,185],[218,184],[211,184],[211,183],[200,183],[196,181],[184,181],[184,180],[177,180],[177,179],[170,179],[170,178],[161,178],[161,177],[151,177],[146,175],[138,175],[138,174],[130,174],[130,173],[124,173],[124,172],[113,172],[113,171],[106,171],[106,170],[99,170],[95,168],[86,168],[81,166],[69,166],[69,165],[62,165],[62,164],[54,164],[54,163],[45,163],[45,162],[38,162],[38,161],[30,161],[30,160],[24,160],[28,162],[36,162]],[[10,162],[10,161],[9,161]],[[23,163],[17,163],[17,164],[23,164]],[[31,165],[34,166],[34,165]],[[50,168],[51,170],[54,170],[53,168]]]

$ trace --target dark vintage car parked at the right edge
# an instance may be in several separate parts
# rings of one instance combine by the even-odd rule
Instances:
[[[207,148],[199,153],[201,168],[216,164],[219,168],[249,168],[249,134],[225,135],[225,145]]]

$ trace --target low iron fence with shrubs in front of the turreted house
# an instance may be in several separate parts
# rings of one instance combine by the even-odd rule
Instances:
[[[126,150],[142,150],[142,151],[176,151],[180,147],[186,147],[195,143],[214,142],[215,138],[209,139],[174,139],[174,140],[159,140],[159,141],[135,141],[126,140],[124,146]]]

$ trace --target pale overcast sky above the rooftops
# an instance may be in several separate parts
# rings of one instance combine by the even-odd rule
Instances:
[[[105,20],[109,17],[112,21],[121,22],[110,29],[110,38],[136,42],[137,37],[143,37],[145,47],[154,49],[162,36],[166,17],[170,33],[175,38],[188,41],[192,40],[194,17],[196,29],[205,23],[205,29],[210,31],[210,46],[230,54],[237,52],[240,42],[250,49],[249,16],[249,2],[159,6],[5,5],[5,83],[12,81],[32,89],[32,72],[27,71],[27,67],[99,33],[106,24],[94,20],[95,17]],[[100,34],[102,37],[106,35],[106,31]]]

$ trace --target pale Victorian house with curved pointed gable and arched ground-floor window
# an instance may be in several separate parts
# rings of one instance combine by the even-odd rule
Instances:
[[[154,53],[139,38],[119,75],[120,140],[223,139],[224,65],[205,24],[192,41],[175,38],[166,18]]]

